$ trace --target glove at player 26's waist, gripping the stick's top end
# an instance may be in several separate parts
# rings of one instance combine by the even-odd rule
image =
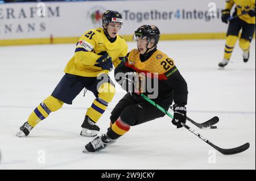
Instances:
[[[123,90],[126,90],[130,95],[139,94],[139,75],[135,71],[125,73],[122,82]]]

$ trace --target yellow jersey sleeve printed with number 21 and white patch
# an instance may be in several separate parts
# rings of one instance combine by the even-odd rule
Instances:
[[[85,32],[76,44],[75,64],[94,65],[101,56],[94,53],[94,47],[97,44],[98,32],[89,30]]]

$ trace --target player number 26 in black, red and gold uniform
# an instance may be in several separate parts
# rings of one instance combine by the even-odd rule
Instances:
[[[166,110],[174,100],[175,112],[172,123],[177,128],[181,128],[181,123],[185,123],[187,118],[185,108],[188,96],[187,83],[174,65],[174,61],[156,49],[159,36],[160,32],[156,26],[144,25],[135,31],[134,37],[137,40],[138,49],[131,50],[125,58],[126,61],[123,61],[115,69],[116,81],[128,93],[112,111],[110,117],[111,126],[108,132],[89,142],[85,146],[84,152],[101,150],[128,132],[131,126],[164,116],[164,113],[152,106],[140,95],[137,95],[142,91],[143,87],[138,87],[137,81],[130,75],[135,75],[138,78],[139,73],[144,73],[146,74],[145,79],[151,81],[154,78],[158,79],[158,86],[152,85],[154,86],[154,91],[158,91],[158,95],[152,100]],[[155,76],[156,74],[158,76]],[[128,86],[126,86],[126,83]],[[133,93],[131,90],[133,90]],[[137,94],[134,92],[137,92]],[[143,92],[145,95],[149,94],[147,89]]]

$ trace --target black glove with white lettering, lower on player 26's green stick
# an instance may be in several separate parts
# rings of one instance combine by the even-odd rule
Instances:
[[[176,125],[177,128],[182,128],[181,123],[186,123],[187,120],[187,108],[185,106],[178,106],[174,104],[174,119],[172,124]]]

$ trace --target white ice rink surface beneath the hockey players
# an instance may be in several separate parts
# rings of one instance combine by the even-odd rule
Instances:
[[[30,136],[18,138],[20,125],[64,75],[75,45],[0,47],[0,170],[255,169],[255,41],[247,64],[237,44],[233,63],[220,71],[217,64],[224,44],[225,40],[161,41],[158,47],[174,58],[188,83],[187,116],[199,123],[220,117],[218,129],[196,131],[221,148],[250,142],[249,150],[236,155],[214,152],[187,129],[176,129],[167,116],[132,127],[105,150],[82,153],[92,140],[79,135],[86,108],[94,99],[89,91],[85,97],[81,92],[73,105],[65,104],[52,113]],[[135,47],[129,43],[129,49]],[[109,110],[98,122],[101,133],[106,132],[110,112],[124,94],[117,86]]]

